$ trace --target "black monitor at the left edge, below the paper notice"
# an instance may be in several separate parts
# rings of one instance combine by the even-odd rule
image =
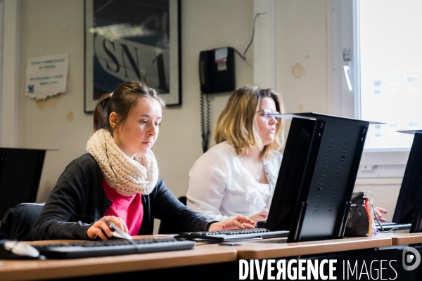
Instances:
[[[0,148],[0,220],[17,204],[35,202],[46,150]]]

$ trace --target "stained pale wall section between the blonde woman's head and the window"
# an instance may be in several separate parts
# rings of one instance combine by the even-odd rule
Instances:
[[[276,90],[287,112],[332,108],[331,1],[276,1]]]

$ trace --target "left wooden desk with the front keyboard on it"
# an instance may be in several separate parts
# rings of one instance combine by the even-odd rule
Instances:
[[[67,260],[3,260],[1,280],[45,280],[236,261],[236,249],[198,244],[192,250]]]

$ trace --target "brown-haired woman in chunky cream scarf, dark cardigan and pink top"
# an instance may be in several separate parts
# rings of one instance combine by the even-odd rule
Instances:
[[[165,187],[151,151],[164,108],[156,91],[139,81],[121,84],[98,100],[88,153],[61,174],[32,239],[107,240],[108,222],[129,235],[148,235],[154,218],[175,233],[253,228],[255,222],[244,216],[215,222],[181,204]]]

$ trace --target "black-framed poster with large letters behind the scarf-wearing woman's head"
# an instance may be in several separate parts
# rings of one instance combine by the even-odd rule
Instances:
[[[124,81],[181,105],[180,0],[85,0],[84,112]]]

